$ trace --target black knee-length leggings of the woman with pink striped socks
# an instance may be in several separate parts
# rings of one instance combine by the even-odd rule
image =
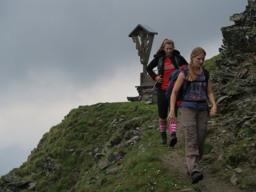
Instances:
[[[157,96],[157,107],[158,107],[158,116],[161,119],[165,119],[168,116],[168,112],[170,109],[170,101],[166,98],[166,90],[157,89],[156,96]],[[175,115],[177,117],[178,114],[178,105],[175,105]]]

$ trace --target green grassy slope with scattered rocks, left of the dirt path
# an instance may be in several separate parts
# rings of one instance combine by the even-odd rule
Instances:
[[[40,192],[76,191],[179,191],[184,188],[182,182],[166,172],[160,155],[166,148],[159,145],[157,106],[148,106],[139,102],[103,103],[92,106],[80,106],[69,112],[58,125],[44,134],[37,148],[30,154],[28,161],[10,173],[18,174],[15,180],[36,181],[36,190]],[[140,117],[136,120],[133,118]],[[125,119],[124,122],[112,126],[114,119]],[[132,120],[132,121],[130,121]],[[148,128],[149,126],[152,128]],[[130,130],[139,127],[143,138],[133,146],[112,144],[118,138],[129,139]],[[108,146],[110,154],[123,151],[125,156],[104,170],[98,167],[94,155],[95,149],[103,152]],[[70,152],[73,149],[74,152]],[[56,160],[56,172],[46,177],[46,173],[36,172],[36,167],[44,165],[45,155]],[[101,160],[103,160],[102,158]],[[116,175],[105,175],[105,172],[124,164],[124,168]],[[31,174],[33,173],[33,174]],[[1,178],[1,184],[4,176]],[[48,181],[52,181],[50,186]],[[173,183],[173,185],[172,185]],[[33,190],[22,190],[32,192]]]

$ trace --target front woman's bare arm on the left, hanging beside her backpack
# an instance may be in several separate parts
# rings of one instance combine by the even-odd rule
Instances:
[[[170,100],[170,112],[169,112],[169,115],[168,115],[168,118],[167,118],[167,120],[169,122],[173,122],[174,119],[176,118],[176,116],[175,116],[175,103],[176,103],[177,94],[178,94],[180,88],[183,86],[184,78],[185,78],[184,73],[180,73],[178,75],[176,84],[175,84],[175,86],[172,90],[172,95],[171,95],[171,100]]]

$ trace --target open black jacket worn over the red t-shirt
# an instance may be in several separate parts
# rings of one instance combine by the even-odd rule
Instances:
[[[188,65],[188,62],[184,59],[184,57],[182,57],[180,55],[180,52],[178,50],[174,50],[172,53],[172,64],[174,64],[175,68],[178,69],[180,68],[180,66],[182,65]],[[175,58],[176,57],[176,58]],[[155,80],[156,76],[160,76],[161,77],[164,76],[164,58],[165,58],[165,51],[161,51],[158,54],[154,55],[154,59],[148,64],[148,66],[146,67],[146,70],[149,74],[149,76]],[[158,62],[160,59],[160,63],[162,62],[162,64],[160,64],[160,66],[158,66]],[[158,74],[156,74],[153,69],[155,67],[158,67]],[[156,83],[156,88],[161,88],[161,83]]]

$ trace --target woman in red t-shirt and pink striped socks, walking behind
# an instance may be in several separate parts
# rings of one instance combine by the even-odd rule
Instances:
[[[157,88],[156,96],[159,126],[161,130],[161,144],[167,144],[166,118],[168,116],[168,108],[170,108],[170,101],[166,98],[166,90],[170,82],[170,74],[180,68],[183,64],[188,64],[188,62],[186,62],[180,55],[180,52],[174,48],[174,42],[165,38],[154,55],[154,59],[146,67],[149,76],[153,80],[156,80],[155,86]],[[153,70],[156,66],[158,68],[158,74]],[[174,123],[170,124],[170,146],[174,146],[177,143],[176,128],[177,119]]]

